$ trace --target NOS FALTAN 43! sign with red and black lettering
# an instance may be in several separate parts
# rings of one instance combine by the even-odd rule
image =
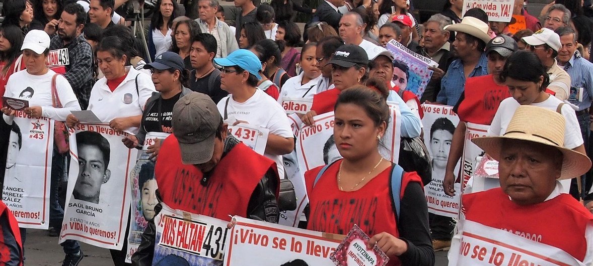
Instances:
[[[230,235],[228,222],[161,204],[154,219],[152,265],[221,266]]]

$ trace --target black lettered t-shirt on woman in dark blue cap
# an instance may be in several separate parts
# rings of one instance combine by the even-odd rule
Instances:
[[[164,132],[171,131],[171,117],[173,116],[173,106],[181,96],[181,92],[169,99],[158,99],[154,106],[148,111],[144,119],[144,128],[146,132]]]

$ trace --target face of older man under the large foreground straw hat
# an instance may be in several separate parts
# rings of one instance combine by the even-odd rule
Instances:
[[[498,166],[502,190],[518,205],[544,202],[560,177],[562,153],[520,140],[505,140],[502,147]]]

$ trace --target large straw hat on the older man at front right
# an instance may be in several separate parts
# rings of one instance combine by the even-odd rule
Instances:
[[[474,138],[471,141],[498,161],[504,139],[531,141],[557,148],[564,157],[558,178],[563,180],[581,176],[591,168],[589,157],[564,147],[564,134],[565,119],[562,114],[537,106],[521,105],[515,111],[504,135]]]

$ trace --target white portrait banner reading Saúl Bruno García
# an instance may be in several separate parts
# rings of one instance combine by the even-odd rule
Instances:
[[[60,243],[122,249],[130,207],[129,174],[138,151],[109,125],[70,129],[70,172]]]

